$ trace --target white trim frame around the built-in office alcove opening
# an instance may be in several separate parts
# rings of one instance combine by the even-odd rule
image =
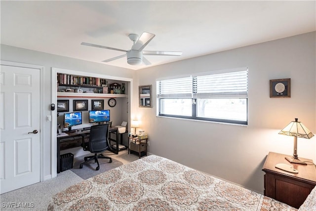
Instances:
[[[103,79],[110,79],[110,80],[118,80],[118,81],[125,81],[129,82],[128,87],[128,122],[131,122],[131,105],[133,102],[133,79],[131,78],[124,78],[119,76],[110,76],[110,75],[103,75],[98,73],[90,73],[90,72],[83,72],[77,70],[68,70],[68,69],[61,69],[61,68],[51,68],[51,103],[55,104],[57,107],[57,73],[63,73],[68,75],[77,75],[77,76],[87,76],[87,77],[94,77],[94,78],[103,78]],[[57,125],[57,109],[52,111],[52,118],[51,124],[52,126]],[[130,127],[130,125],[129,125]],[[129,128],[130,130],[130,128]],[[57,127],[51,127],[51,140],[56,140],[56,133]],[[57,176],[57,141],[51,142],[51,176],[52,178]]]

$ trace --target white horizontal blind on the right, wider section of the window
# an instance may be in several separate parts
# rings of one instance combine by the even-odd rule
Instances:
[[[247,98],[247,72],[197,76],[197,98]]]

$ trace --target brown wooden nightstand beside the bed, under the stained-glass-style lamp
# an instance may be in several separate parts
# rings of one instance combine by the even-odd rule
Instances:
[[[298,209],[316,186],[316,166],[291,164],[285,157],[291,156],[269,152],[262,168],[265,172],[264,195]],[[300,160],[313,162],[305,158]],[[276,169],[279,163],[292,166],[298,173]]]

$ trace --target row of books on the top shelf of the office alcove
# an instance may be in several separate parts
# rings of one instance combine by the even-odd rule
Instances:
[[[105,79],[93,78],[93,77],[81,77],[81,76],[72,76],[68,74],[57,73],[57,81],[59,84],[68,84],[68,85],[96,85],[104,86],[107,84]]]

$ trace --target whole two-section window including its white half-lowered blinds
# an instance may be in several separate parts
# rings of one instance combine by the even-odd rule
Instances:
[[[247,125],[246,68],[157,81],[159,116]]]

